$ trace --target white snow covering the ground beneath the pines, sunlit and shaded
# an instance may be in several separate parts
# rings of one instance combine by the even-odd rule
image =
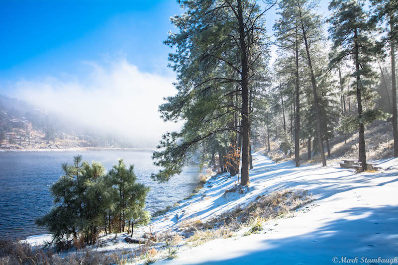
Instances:
[[[259,234],[216,239],[199,247],[179,248],[178,258],[157,264],[333,264],[333,257],[394,258],[398,256],[398,159],[376,161],[377,173],[355,174],[338,164],[296,168],[291,162],[276,164],[254,154],[249,187],[236,187],[237,177],[214,176],[192,198],[168,213],[156,217],[149,226],[134,232],[173,232],[191,218],[202,222],[237,205],[248,204],[259,195],[275,190],[305,189],[314,202],[298,209],[293,218],[266,222]],[[224,194],[225,193],[225,194]],[[101,238],[98,252],[133,250],[125,233]],[[38,242],[40,238],[28,238]],[[164,244],[155,245],[160,249]],[[142,263],[143,261],[141,261]],[[374,263],[378,264],[378,263]]]

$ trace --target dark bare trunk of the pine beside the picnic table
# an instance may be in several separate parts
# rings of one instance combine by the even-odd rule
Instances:
[[[358,31],[357,28],[354,30],[354,41],[355,41],[355,70],[356,70],[356,87],[357,87],[357,102],[358,102],[358,140],[359,140],[359,154],[358,160],[362,163],[362,170],[368,169],[366,164],[366,149],[365,149],[365,129],[362,121],[362,98],[361,98],[361,76],[359,67],[359,46],[358,46]]]

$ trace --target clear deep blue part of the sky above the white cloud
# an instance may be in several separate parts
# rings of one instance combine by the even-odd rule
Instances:
[[[8,0],[0,11],[0,92],[8,82],[85,73],[84,61],[123,56],[164,74],[162,41],[174,0]]]

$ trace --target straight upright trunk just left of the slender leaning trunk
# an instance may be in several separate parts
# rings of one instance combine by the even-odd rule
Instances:
[[[295,126],[295,162],[300,166],[300,84],[298,78],[298,28],[296,28],[296,126]]]

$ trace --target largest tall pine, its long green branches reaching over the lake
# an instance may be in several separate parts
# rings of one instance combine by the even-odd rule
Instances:
[[[177,95],[160,106],[165,120],[185,119],[181,132],[166,133],[155,152],[162,166],[152,177],[167,181],[180,174],[200,142],[214,134],[235,132],[242,138],[241,185],[249,183],[250,84],[254,67],[265,64],[268,41],[264,12],[251,0],[181,0],[186,10],[172,18],[179,33],[165,41],[176,49],[169,56],[177,72]],[[231,96],[238,97],[231,104]],[[236,115],[235,115],[236,114]],[[240,126],[231,121],[238,116]],[[238,130],[238,128],[240,130]]]

